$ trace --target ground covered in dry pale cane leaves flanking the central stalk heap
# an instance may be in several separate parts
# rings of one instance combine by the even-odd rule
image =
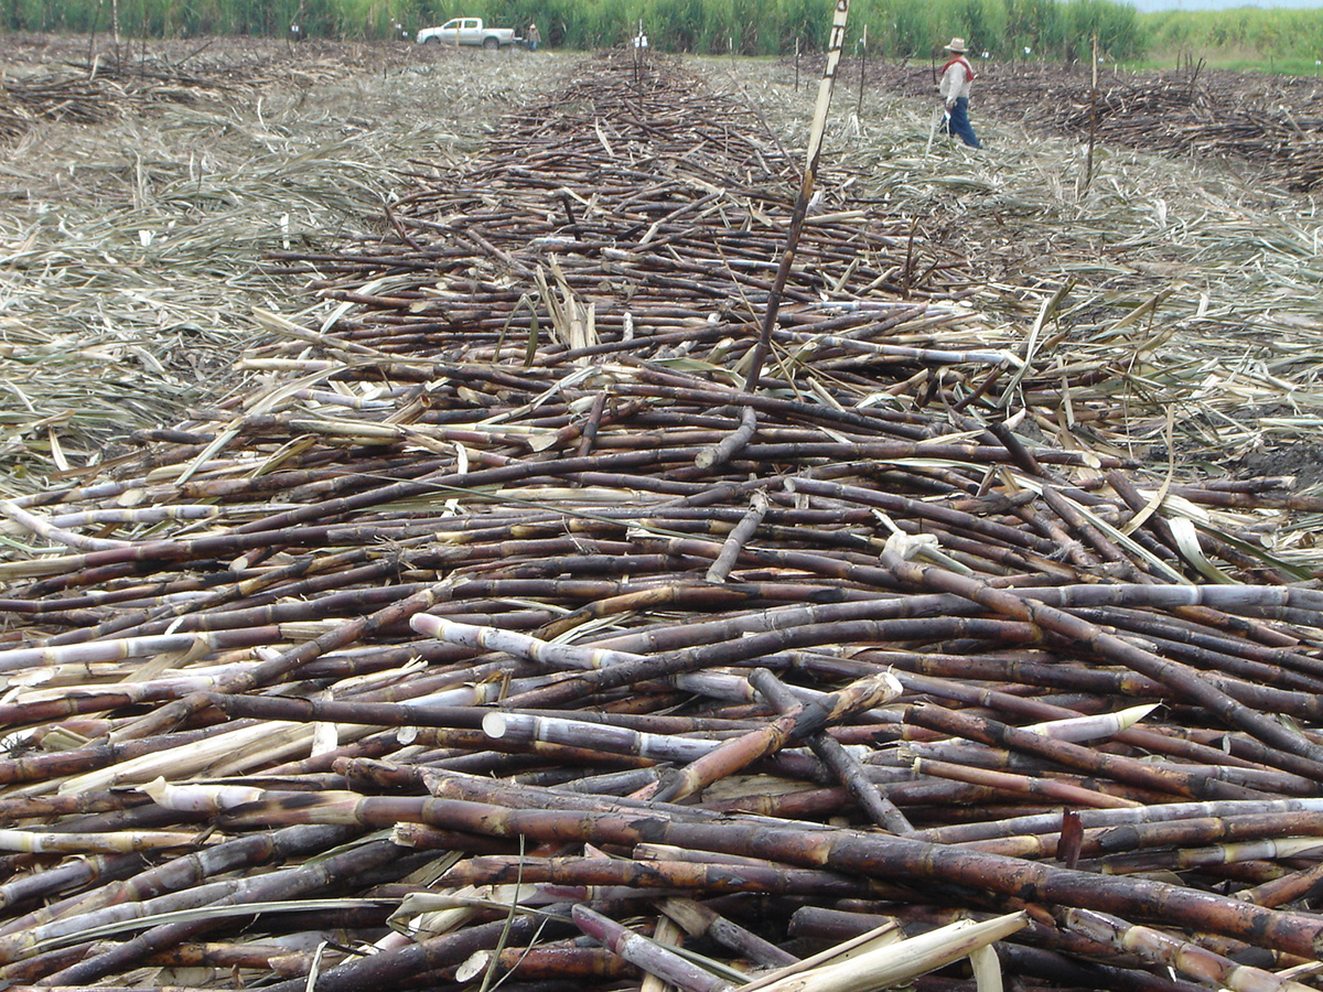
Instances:
[[[5,45],[16,77],[89,61],[86,40]],[[98,45],[106,71],[114,53]],[[97,124],[36,122],[0,160],[0,458],[13,491],[114,454],[105,446],[126,429],[242,389],[234,358],[266,312],[298,320],[329,306],[273,274],[265,253],[380,230],[404,173],[462,161],[578,60],[258,40],[147,48],[197,81],[126,97]],[[693,63],[802,145],[816,93],[807,71],[796,89],[789,63]],[[925,71],[902,89],[922,91]],[[925,250],[964,258],[971,303],[1017,340],[1072,286],[1052,315],[1054,347],[1135,370],[1114,384],[1117,402],[1134,405],[1125,436],[1103,443],[1160,463],[1171,433],[1189,470],[1323,479],[1316,193],[1287,192],[1244,160],[1102,145],[1086,179],[1084,135],[1044,135],[1013,107],[991,118],[978,95],[986,149],[939,138],[925,153],[931,106],[873,82],[860,98],[847,67],[832,167],[853,176],[851,196],[912,220]],[[1118,325],[1140,307],[1142,320]]]

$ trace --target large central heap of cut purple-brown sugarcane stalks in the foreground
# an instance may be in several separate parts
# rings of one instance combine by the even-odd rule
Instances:
[[[0,979],[1311,987],[1319,501],[1088,444],[841,176],[746,389],[792,180],[594,62],[275,259],[259,389],[0,501]]]

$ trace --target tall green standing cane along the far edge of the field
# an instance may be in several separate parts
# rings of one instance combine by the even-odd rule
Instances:
[[[388,37],[471,15],[505,26],[536,20],[552,45],[627,42],[643,25],[668,52],[778,56],[820,50],[831,0],[0,0],[0,28],[128,37],[269,34],[298,24],[310,37]],[[1090,40],[1109,61],[1140,65],[1160,53],[1217,65],[1311,71],[1323,57],[1323,11],[1258,9],[1139,15],[1114,0],[855,0],[851,46],[929,58],[953,34],[1000,60],[1088,60]]]

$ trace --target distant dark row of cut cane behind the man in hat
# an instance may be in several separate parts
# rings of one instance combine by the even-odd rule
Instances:
[[[857,78],[857,65],[843,66]],[[929,66],[869,62],[868,79],[912,97],[933,97]],[[1269,167],[1290,189],[1323,181],[1323,116],[1316,79],[1278,79],[1265,91],[1253,74],[1184,69],[1176,73],[1099,71],[1097,93],[1088,71],[1048,65],[992,63],[979,69],[978,114],[1020,120],[1085,140],[1131,148],[1229,156]]]

